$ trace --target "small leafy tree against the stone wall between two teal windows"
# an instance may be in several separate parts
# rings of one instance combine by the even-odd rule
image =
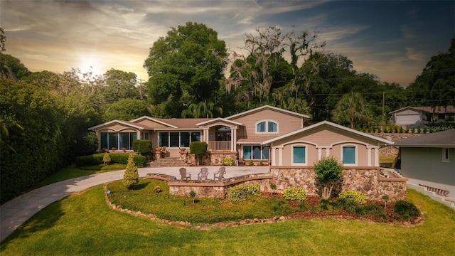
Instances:
[[[333,186],[343,179],[343,166],[333,157],[323,158],[314,164],[314,171],[316,181],[323,187],[322,198],[330,198]]]

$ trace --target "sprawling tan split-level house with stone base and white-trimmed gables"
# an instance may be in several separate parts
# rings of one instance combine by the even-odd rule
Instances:
[[[309,194],[317,194],[320,188],[315,181],[314,163],[334,157],[344,166],[338,191],[361,191],[376,200],[384,195],[392,201],[405,198],[407,179],[386,176],[379,166],[380,147],[393,142],[326,121],[304,127],[307,119],[304,114],[264,105],[225,118],[140,117],[113,120],[90,129],[99,138],[100,150],[131,150],[135,139],[149,139],[154,146],[166,146],[166,157],[194,163],[191,154],[180,149],[202,141],[208,144],[205,164],[220,165],[226,157],[245,164],[269,164],[270,174],[261,185],[264,191],[269,183],[275,183],[277,191],[299,186]],[[200,186],[186,182],[174,185],[176,193]]]

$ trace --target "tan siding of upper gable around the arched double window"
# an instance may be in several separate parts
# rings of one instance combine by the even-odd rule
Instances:
[[[298,129],[303,128],[302,117],[295,117],[274,110],[262,110],[232,119],[232,121],[245,124],[245,130],[242,130],[240,134],[237,134],[238,137],[260,136],[261,134],[264,134],[256,133],[256,124],[262,120],[274,121],[278,124],[278,132],[276,133],[277,136],[287,134],[289,132],[294,132]]]

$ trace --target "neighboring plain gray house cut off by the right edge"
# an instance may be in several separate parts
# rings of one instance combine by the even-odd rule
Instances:
[[[450,191],[455,198],[455,129],[397,140],[400,173],[408,183]]]

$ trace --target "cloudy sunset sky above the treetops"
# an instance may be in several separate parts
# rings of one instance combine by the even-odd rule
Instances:
[[[455,1],[0,0],[4,53],[32,72],[114,68],[148,80],[143,65],[153,43],[188,21],[213,28],[237,53],[257,28],[319,31],[326,53],[406,87],[449,49]]]

